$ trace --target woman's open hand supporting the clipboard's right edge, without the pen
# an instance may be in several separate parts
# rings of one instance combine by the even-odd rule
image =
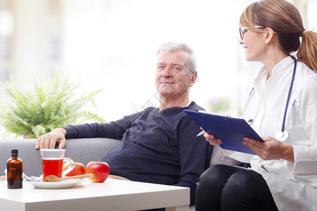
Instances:
[[[290,144],[283,143],[271,136],[263,136],[263,142],[244,137],[243,144],[251,148],[263,160],[283,159],[294,162],[294,151]]]

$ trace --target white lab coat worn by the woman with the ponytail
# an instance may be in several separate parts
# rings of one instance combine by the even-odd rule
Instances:
[[[254,120],[251,127],[260,136],[275,137],[282,127],[293,68],[289,56],[275,66],[267,82],[266,68],[254,79],[243,117]],[[237,152],[230,157],[244,162],[251,158],[251,169],[266,180],[279,210],[317,210],[317,73],[304,63],[297,62],[285,129],[289,136],[284,142],[294,148],[294,163]]]

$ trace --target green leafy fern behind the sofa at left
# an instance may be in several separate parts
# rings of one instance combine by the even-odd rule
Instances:
[[[0,124],[6,132],[35,139],[56,127],[80,124],[87,120],[104,122],[98,115],[86,111],[87,103],[94,103],[94,97],[102,91],[78,94],[79,82],[70,82],[68,77],[59,75],[43,86],[33,79],[34,90],[18,90],[14,80],[5,82],[4,91],[10,97],[7,105],[0,110]]]

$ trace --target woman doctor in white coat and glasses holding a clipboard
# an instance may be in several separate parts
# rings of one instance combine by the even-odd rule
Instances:
[[[249,169],[206,170],[196,210],[317,210],[317,33],[304,30],[288,1],[263,0],[240,16],[240,35],[246,59],[263,63],[243,117],[264,143],[244,138],[256,153]],[[222,143],[204,136],[211,145]],[[248,161],[246,154],[225,153]]]

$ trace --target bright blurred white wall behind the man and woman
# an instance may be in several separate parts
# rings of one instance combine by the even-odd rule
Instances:
[[[156,49],[166,41],[184,41],[197,54],[192,100],[209,110],[212,98],[230,98],[229,112],[238,115],[244,84],[260,67],[244,60],[238,44],[239,17],[251,2],[0,0],[0,11],[6,5],[13,14],[9,63],[21,89],[32,85],[30,72],[45,83],[57,71],[70,71],[82,78],[82,91],[105,88],[97,97],[98,110],[92,111],[111,121],[158,105]],[[306,30],[316,27],[317,0],[294,4],[309,15],[303,15]],[[3,105],[3,90],[0,95]]]

